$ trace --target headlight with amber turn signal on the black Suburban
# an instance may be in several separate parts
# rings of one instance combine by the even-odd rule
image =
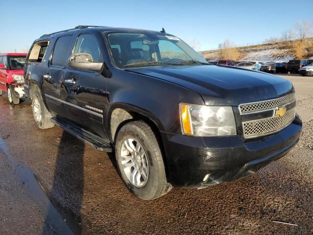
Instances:
[[[184,135],[213,137],[237,135],[235,116],[230,106],[205,106],[180,103],[181,130]]]

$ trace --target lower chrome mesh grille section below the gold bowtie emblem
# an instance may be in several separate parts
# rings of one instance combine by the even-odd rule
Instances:
[[[244,137],[254,138],[280,131],[291,123],[295,116],[295,108],[287,111],[283,116],[257,119],[243,122]]]

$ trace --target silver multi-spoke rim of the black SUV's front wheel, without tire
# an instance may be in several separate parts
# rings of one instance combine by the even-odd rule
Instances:
[[[122,142],[120,161],[127,179],[137,188],[145,186],[149,176],[149,164],[141,144],[133,138]]]

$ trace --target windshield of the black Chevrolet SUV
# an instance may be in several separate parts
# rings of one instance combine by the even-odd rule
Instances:
[[[106,35],[114,64],[120,69],[206,64],[179,38],[158,33],[112,32]]]

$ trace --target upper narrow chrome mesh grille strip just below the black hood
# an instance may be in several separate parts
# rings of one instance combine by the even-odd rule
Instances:
[[[277,98],[277,99],[270,99],[270,100],[255,102],[255,103],[241,104],[239,105],[239,110],[241,114],[248,114],[252,112],[276,108],[284,104],[291,103],[294,100],[295,100],[295,93],[292,93],[292,94],[289,94],[289,95],[286,95],[284,97]]]

